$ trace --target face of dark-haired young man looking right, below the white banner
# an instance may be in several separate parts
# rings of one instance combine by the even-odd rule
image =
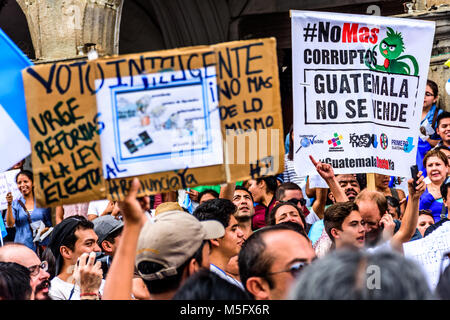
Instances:
[[[364,220],[358,211],[352,211],[342,222],[342,230],[336,232],[336,248],[352,246],[363,248],[365,241]]]

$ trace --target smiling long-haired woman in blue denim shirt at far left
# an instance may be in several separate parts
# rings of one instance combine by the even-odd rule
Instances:
[[[10,192],[6,195],[8,203],[6,224],[10,228],[16,227],[14,242],[26,245],[39,255],[40,252],[36,250],[36,243],[33,241],[33,227],[37,230],[39,221],[42,221],[46,228],[51,227],[51,210],[49,208],[36,208],[33,173],[31,171],[20,171],[16,176],[16,183],[22,195],[16,200],[13,199]],[[45,240],[48,241],[48,237]],[[46,241],[42,245],[45,245],[45,243]]]

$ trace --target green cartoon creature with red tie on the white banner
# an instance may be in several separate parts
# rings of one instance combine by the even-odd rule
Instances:
[[[405,50],[402,34],[395,32],[392,28],[387,28],[387,37],[380,42],[380,53],[385,58],[383,65],[373,64],[374,61],[367,61],[366,66],[370,70],[378,70],[389,73],[397,74],[411,74],[411,68],[409,64],[400,60],[409,59],[414,67],[413,75],[417,76],[419,73],[419,65],[416,58],[411,55],[401,56],[401,53]],[[375,56],[375,49],[377,45],[372,49],[372,57]]]

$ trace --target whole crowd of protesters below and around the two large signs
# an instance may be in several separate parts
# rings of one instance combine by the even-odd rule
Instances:
[[[373,173],[374,188],[366,173],[337,174],[314,153],[315,178],[302,172],[294,123],[281,139],[279,174],[145,196],[135,174],[121,201],[74,204],[65,195],[71,204],[41,208],[35,190],[50,181],[37,182],[26,158],[7,170],[18,193],[6,192],[0,219],[0,300],[448,300],[444,87],[428,80],[418,93],[415,176]],[[411,255],[428,240],[443,253],[427,260],[438,272]]]

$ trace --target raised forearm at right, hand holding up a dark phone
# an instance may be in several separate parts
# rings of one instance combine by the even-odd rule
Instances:
[[[414,189],[413,179],[408,180],[409,198],[406,204],[405,214],[403,215],[402,224],[397,233],[394,234],[391,240],[391,245],[394,249],[403,252],[403,243],[411,240],[417,227],[417,220],[419,219],[419,201],[420,196],[425,191],[425,182],[422,176],[422,171],[417,174],[417,186]]]

